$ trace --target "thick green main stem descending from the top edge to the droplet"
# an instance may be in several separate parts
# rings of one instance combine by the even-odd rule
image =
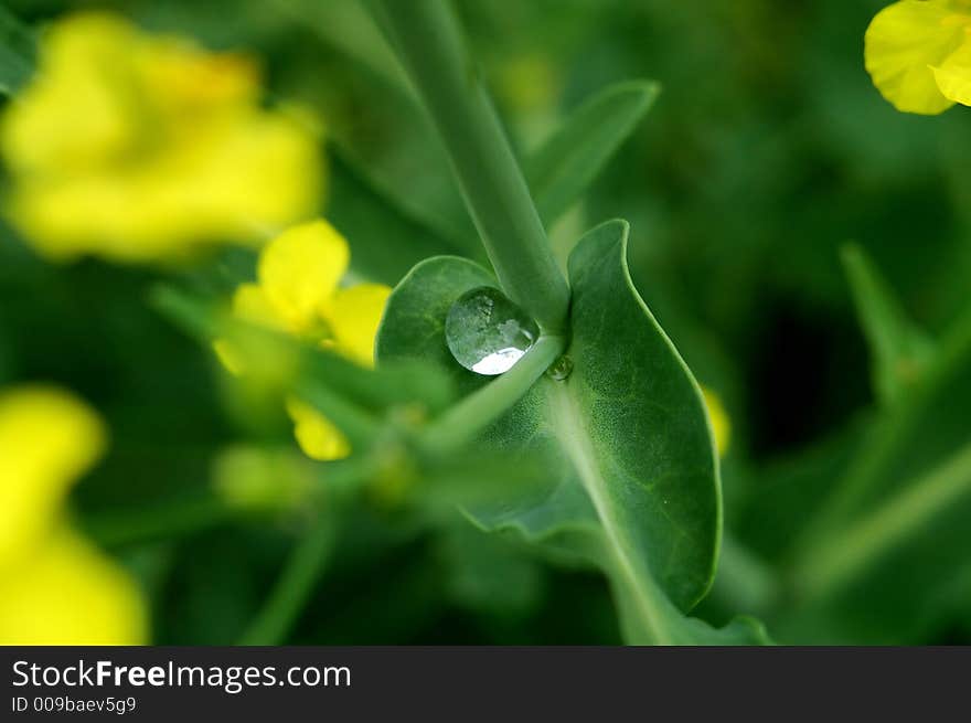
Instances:
[[[374,0],[428,109],[505,293],[549,333],[566,325],[569,289],[522,171],[442,0]]]

